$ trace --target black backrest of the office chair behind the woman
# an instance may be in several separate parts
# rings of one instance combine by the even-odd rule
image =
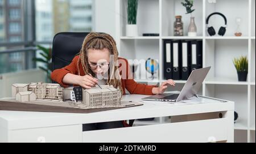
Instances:
[[[61,69],[78,54],[82,48],[82,42],[89,33],[62,32],[57,33],[52,43],[52,71]]]

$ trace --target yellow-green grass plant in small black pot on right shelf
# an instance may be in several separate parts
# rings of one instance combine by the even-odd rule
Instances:
[[[240,58],[234,58],[234,66],[237,69],[238,81],[246,82],[248,74],[248,60],[247,57],[241,56]]]

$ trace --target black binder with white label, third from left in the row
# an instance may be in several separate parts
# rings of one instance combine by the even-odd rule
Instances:
[[[181,79],[188,80],[189,75],[191,74],[191,42],[182,41],[182,70],[181,70]]]

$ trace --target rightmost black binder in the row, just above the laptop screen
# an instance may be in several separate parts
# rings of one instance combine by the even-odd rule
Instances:
[[[203,67],[203,41],[191,41],[191,71]]]

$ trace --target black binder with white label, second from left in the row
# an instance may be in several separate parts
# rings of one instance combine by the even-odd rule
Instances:
[[[172,79],[180,80],[181,79],[181,67],[182,67],[182,50],[181,50],[181,41],[172,41],[171,46],[171,55],[173,58],[172,62]]]

